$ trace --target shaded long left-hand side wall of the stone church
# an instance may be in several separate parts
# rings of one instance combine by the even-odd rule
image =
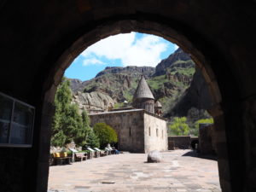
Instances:
[[[91,125],[106,123],[118,134],[119,150],[144,153],[144,122],[142,109],[90,115]]]

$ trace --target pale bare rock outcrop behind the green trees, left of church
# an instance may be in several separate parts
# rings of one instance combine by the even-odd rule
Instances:
[[[100,92],[82,93],[77,92],[73,95],[73,103],[78,104],[80,110],[87,110],[89,113],[107,111],[113,107],[113,99]]]

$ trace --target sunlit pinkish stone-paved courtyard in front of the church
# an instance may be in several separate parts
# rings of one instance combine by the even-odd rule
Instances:
[[[147,154],[113,154],[67,166],[49,167],[49,192],[221,191],[216,160],[193,157],[190,150],[161,153],[161,163]]]

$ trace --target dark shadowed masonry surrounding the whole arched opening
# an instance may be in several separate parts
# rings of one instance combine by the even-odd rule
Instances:
[[[221,188],[255,191],[255,10],[253,0],[1,1],[0,91],[36,114],[32,148],[0,147],[0,191],[47,191],[61,76],[90,44],[131,31],[159,35],[189,52],[214,101]]]

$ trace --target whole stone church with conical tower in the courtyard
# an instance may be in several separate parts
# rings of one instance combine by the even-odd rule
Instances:
[[[167,150],[166,120],[161,117],[160,102],[154,96],[144,77],[133,96],[132,108],[119,108],[103,113],[92,113],[91,125],[106,123],[118,134],[118,148],[134,153]]]

